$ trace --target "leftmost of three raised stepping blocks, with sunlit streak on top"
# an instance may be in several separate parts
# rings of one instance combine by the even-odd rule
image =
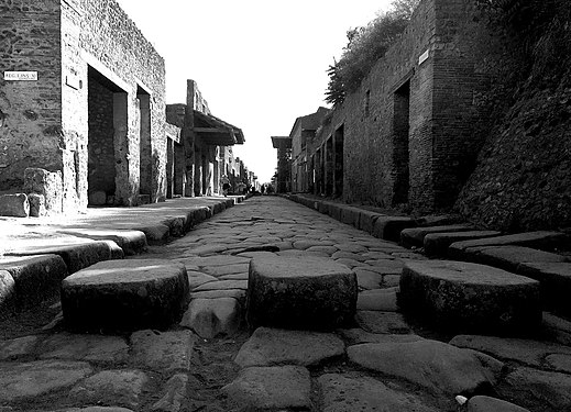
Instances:
[[[188,298],[183,264],[158,259],[109,260],[62,282],[67,325],[78,330],[166,327]]]

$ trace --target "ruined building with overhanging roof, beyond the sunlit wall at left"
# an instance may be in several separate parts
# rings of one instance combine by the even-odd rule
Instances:
[[[242,131],[210,113],[207,101],[194,80],[187,81],[186,104],[168,104],[167,122],[180,127],[179,141],[169,141],[168,192],[173,196],[221,193],[221,178],[240,175],[231,146],[244,143]]]

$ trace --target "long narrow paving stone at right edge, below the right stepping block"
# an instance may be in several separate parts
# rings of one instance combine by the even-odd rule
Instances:
[[[498,359],[517,360],[526,365],[539,367],[549,355],[571,356],[571,347],[531,339],[458,335],[450,345],[483,352]]]

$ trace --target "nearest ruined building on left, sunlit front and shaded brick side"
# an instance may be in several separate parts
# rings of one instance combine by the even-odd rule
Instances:
[[[134,23],[112,0],[0,9],[0,191],[36,168],[53,212],[164,200],[165,64]]]

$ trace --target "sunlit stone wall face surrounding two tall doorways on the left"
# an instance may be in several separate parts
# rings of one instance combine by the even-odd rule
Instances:
[[[116,202],[138,202],[140,174],[140,113],[138,86],[151,94],[151,201],[166,197],[165,65],[114,0],[69,0],[62,2],[64,135],[83,180],[87,169],[88,65],[113,82],[116,94],[127,93],[127,124],[116,129]],[[69,81],[66,81],[69,79]],[[72,83],[72,85],[68,85]],[[75,86],[75,87],[74,87]],[[119,127],[119,129],[118,129]],[[85,174],[87,176],[87,174]],[[83,185],[76,185],[84,203]],[[81,189],[81,190],[79,190]]]

